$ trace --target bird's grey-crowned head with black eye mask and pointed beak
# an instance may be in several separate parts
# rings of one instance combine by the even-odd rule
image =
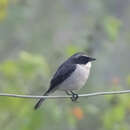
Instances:
[[[74,64],[87,64],[88,62],[96,60],[95,58],[87,56],[83,52],[76,53],[72,55],[69,59],[70,62]]]

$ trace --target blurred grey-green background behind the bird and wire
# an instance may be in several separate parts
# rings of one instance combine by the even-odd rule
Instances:
[[[1,93],[41,95],[79,51],[97,59],[79,93],[130,89],[130,0],[0,0]],[[35,103],[0,97],[0,130],[130,130],[129,94]]]

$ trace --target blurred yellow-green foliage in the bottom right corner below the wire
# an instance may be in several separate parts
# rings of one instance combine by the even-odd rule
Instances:
[[[110,99],[113,99],[111,96]],[[111,100],[110,100],[111,102]],[[121,123],[124,124],[125,114],[129,106],[129,98],[127,95],[118,96],[118,102],[115,105],[111,104],[103,114],[104,129],[115,130],[116,125],[121,128]]]

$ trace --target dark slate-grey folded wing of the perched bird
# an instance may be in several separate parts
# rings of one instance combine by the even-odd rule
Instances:
[[[56,88],[60,83],[66,80],[75,69],[75,64],[62,64],[51,80],[49,91]]]

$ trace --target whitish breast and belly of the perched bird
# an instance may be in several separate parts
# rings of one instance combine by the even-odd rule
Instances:
[[[76,67],[71,76],[58,86],[59,90],[78,90],[85,85],[91,65],[77,65]]]

